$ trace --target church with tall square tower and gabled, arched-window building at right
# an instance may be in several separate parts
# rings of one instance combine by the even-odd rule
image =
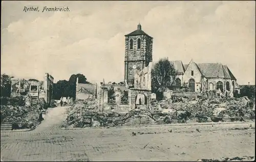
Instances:
[[[128,85],[134,82],[133,69],[148,66],[153,62],[152,56],[153,37],[146,34],[138,24],[137,30],[125,35],[124,81]],[[233,92],[239,89],[236,77],[222,63],[196,63],[192,59],[188,64],[183,64],[181,60],[171,62],[178,72],[176,87],[186,85],[190,92],[217,89]]]

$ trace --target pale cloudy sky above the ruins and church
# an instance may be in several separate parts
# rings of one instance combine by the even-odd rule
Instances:
[[[39,12],[24,12],[31,6]],[[154,38],[153,61],[220,62],[255,84],[255,1],[2,1],[1,74],[123,81],[124,35],[139,22]]]

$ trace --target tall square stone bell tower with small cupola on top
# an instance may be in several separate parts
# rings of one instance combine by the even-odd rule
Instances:
[[[153,37],[141,30],[125,35],[124,80],[128,85],[133,84],[134,68],[143,69],[152,62]]]

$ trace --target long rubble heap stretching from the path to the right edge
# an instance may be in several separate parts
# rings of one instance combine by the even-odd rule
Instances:
[[[176,97],[162,101],[152,100],[151,110],[137,108],[127,113],[111,111],[102,113],[97,107],[97,100],[88,99],[74,102],[68,110],[67,121],[63,127],[161,125],[186,123],[195,118],[196,122],[218,122],[222,121],[223,117],[255,118],[255,110],[247,108],[247,103],[250,101],[245,102],[245,100],[244,98],[222,97],[207,99],[204,96],[194,99]],[[90,118],[82,114],[84,108],[92,110]]]

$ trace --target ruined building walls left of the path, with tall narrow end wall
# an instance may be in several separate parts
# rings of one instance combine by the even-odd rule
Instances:
[[[48,105],[54,103],[53,100],[53,80],[54,78],[46,73],[44,81],[36,79],[13,79],[11,85],[12,96],[29,96],[31,98],[44,98]]]

